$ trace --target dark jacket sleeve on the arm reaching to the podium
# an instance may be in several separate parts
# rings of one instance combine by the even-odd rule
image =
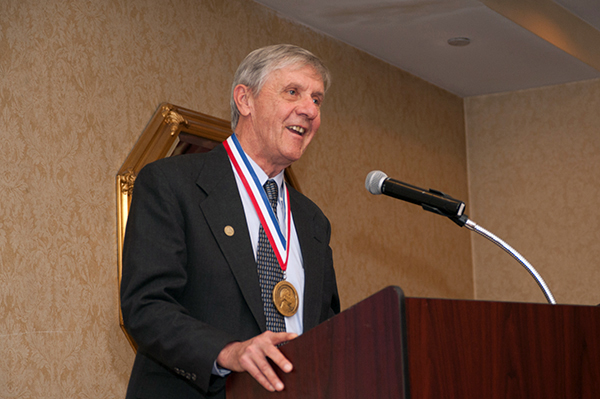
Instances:
[[[175,193],[154,164],[135,181],[123,248],[121,307],[140,353],[207,392],[215,359],[235,339],[190,316],[181,304],[188,288],[188,221]]]

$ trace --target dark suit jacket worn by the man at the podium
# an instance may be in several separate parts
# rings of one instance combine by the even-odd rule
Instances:
[[[339,312],[330,224],[291,189],[304,260],[304,329]],[[234,229],[225,234],[226,226]],[[211,374],[229,342],[266,329],[256,262],[223,146],[139,173],[123,251],[121,304],[138,344],[128,398],[224,397]]]

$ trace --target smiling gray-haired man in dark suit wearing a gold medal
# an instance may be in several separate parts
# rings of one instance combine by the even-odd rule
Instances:
[[[267,358],[290,372],[277,346],[339,312],[329,221],[283,181],[319,128],[328,83],[302,48],[255,50],[232,86],[235,134],[139,173],[121,283],[139,346],[128,398],[224,398],[226,376],[243,371],[282,390]]]

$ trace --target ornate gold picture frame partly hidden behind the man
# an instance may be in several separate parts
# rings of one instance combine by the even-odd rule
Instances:
[[[123,271],[123,239],[135,178],[140,170],[150,162],[180,154],[208,152],[230,135],[231,124],[177,105],[163,103],[146,126],[137,143],[125,159],[117,173],[117,256],[118,287],[121,288]],[[286,181],[299,190],[298,182],[288,167]],[[121,301],[119,300],[119,325],[136,350],[137,346],[123,324]]]

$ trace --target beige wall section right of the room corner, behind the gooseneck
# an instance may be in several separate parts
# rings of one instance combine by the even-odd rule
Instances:
[[[465,101],[472,220],[508,242],[558,303],[600,303],[600,80]],[[478,299],[544,302],[534,280],[473,237]]]

